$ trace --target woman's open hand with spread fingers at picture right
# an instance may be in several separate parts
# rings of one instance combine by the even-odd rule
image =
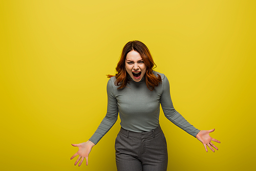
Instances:
[[[197,138],[199,141],[201,141],[201,142],[203,143],[206,152],[208,152],[207,146],[211,149],[212,152],[215,152],[215,151],[214,151],[214,148],[218,150],[217,146],[215,146],[214,144],[212,144],[211,141],[215,141],[215,142],[221,143],[221,142],[218,141],[217,139],[214,139],[214,138],[211,138],[211,137],[210,137],[209,133],[214,132],[214,130],[215,130],[215,129],[208,130],[208,131],[206,131],[206,130],[201,130],[201,131],[197,134],[197,136],[196,136],[196,138]],[[207,146],[206,146],[206,145],[207,145]],[[212,148],[212,147],[214,147],[214,148]]]

